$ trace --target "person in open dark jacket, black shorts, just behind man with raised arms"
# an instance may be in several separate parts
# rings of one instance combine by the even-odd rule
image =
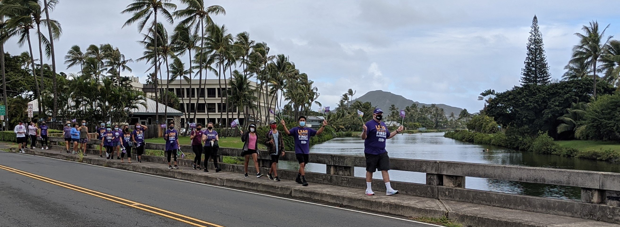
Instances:
[[[267,145],[267,151],[269,151],[269,156],[271,157],[271,168],[267,176],[270,180],[280,181],[280,177],[278,177],[278,161],[280,161],[280,156],[284,156],[284,136],[278,131],[278,123],[275,120],[270,120],[269,126],[271,130],[265,135],[265,145]]]

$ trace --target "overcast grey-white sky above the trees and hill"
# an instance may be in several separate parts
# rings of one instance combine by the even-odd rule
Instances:
[[[136,26],[122,25],[128,0],[61,0],[51,17],[61,22],[56,61],[71,45],[111,43],[128,58],[142,49]],[[172,1],[179,3],[177,1]],[[598,20],[620,35],[617,1],[207,1],[226,9],[216,16],[229,32],[247,31],[283,53],[319,88],[319,101],[335,106],[352,88],[356,97],[381,89],[423,103],[469,112],[485,89],[519,84],[529,26],[538,16],[552,78],[560,78],[577,43],[573,33]],[[183,8],[182,4],[177,4]],[[46,32],[47,33],[47,32]],[[27,50],[9,40],[6,51]],[[35,48],[35,53],[38,50]],[[130,65],[144,82],[144,62]],[[78,68],[61,71],[74,73]],[[210,76],[213,76],[210,74]],[[333,108],[333,107],[332,107]]]

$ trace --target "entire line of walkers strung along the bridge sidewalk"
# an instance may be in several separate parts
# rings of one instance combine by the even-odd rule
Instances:
[[[394,137],[397,133],[400,133],[404,128],[401,126],[394,131],[389,131],[383,120],[383,110],[375,109],[373,112],[373,119],[366,122],[363,125],[363,132],[361,133],[361,139],[364,140],[364,154],[366,158],[366,195],[374,195],[372,190],[372,177],[373,173],[377,170],[381,171],[384,184],[386,185],[386,195],[398,194],[397,190],[392,189],[389,174],[389,156],[386,151],[386,140]],[[299,162],[299,171],[295,182],[303,186],[308,186],[306,181],[306,164],[309,162],[309,146],[310,138],[315,135],[320,135],[327,121],[323,120],[319,130],[314,130],[310,127],[306,127],[306,117],[298,118],[299,126],[293,127],[290,130],[286,127],[284,120],[281,120],[281,124],[284,128],[283,133],[278,131],[278,122],[271,120],[270,130],[264,135],[258,135],[257,127],[255,124],[250,124],[247,131],[239,129],[241,132],[241,141],[244,142],[241,156],[244,156],[244,177],[248,176],[248,164],[249,159],[253,159],[254,167],[256,171],[256,177],[260,178],[263,174],[260,172],[258,156],[259,156],[259,141],[263,141],[267,146],[267,152],[270,154],[270,169],[267,173],[268,179],[280,181],[278,177],[278,162],[280,157],[285,156],[285,144],[284,135],[293,136],[294,140],[294,152],[297,161]],[[37,132],[40,129],[40,133]],[[105,156],[107,160],[114,158],[114,153],[117,153],[117,159],[121,159],[124,162],[125,156],[127,156],[128,162],[131,163],[131,150],[135,148],[136,157],[138,162],[141,162],[141,156],[144,153],[144,131],[148,130],[148,127],[136,123],[135,129],[130,130],[128,125],[123,125],[122,130],[118,125],[106,125],[100,124],[100,128],[97,128],[97,135],[99,136],[100,148],[99,157],[103,158],[102,148],[105,148]],[[27,143],[26,135],[29,135],[31,143],[31,149],[35,145],[37,135],[42,138],[42,143],[45,143],[45,149],[47,148],[47,126],[45,122],[41,123],[41,126],[37,128],[34,122],[26,127],[23,122],[15,126],[15,133],[17,134],[17,143],[20,144],[20,153],[23,153],[25,145]],[[81,145],[79,149],[86,151],[86,145],[89,141],[86,127],[86,121],[82,121],[81,125],[78,123],[66,122],[66,126],[63,129],[64,140],[66,141],[66,152],[69,151],[69,143],[73,143],[73,153],[78,151],[78,143]],[[262,137],[262,138],[261,138]],[[179,133],[174,128],[174,123],[168,123],[168,128],[164,132],[164,140],[166,140],[166,158],[168,169],[179,169],[177,166],[177,153],[180,152],[179,146]],[[190,133],[190,140],[192,141],[192,151],[195,153],[193,160],[193,169],[204,169],[208,171],[208,161],[212,159],[215,172],[221,171],[218,164],[218,132],[213,129],[213,123],[209,122],[206,125],[206,130],[203,129],[203,125],[198,123],[194,130]],[[23,145],[23,148],[22,148]],[[43,149],[43,146],[42,146]],[[203,167],[200,166],[201,156],[205,154],[203,161]],[[86,153],[84,152],[84,155]],[[174,164],[171,162],[174,158]]]

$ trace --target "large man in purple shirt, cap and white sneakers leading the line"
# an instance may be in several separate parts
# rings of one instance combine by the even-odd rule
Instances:
[[[383,182],[386,184],[386,195],[396,195],[397,190],[392,189],[389,182],[389,157],[386,151],[386,140],[394,137],[403,130],[398,127],[396,131],[390,132],[386,124],[381,122],[383,110],[374,109],[373,120],[366,122],[362,127],[361,139],[364,140],[364,155],[366,156],[366,195],[374,195],[372,189],[373,172],[377,169],[381,171]]]

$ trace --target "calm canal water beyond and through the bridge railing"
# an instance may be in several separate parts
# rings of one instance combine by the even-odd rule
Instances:
[[[444,133],[422,133],[397,135],[387,140],[386,149],[392,158],[459,161],[516,166],[578,169],[587,171],[620,172],[620,164],[569,158],[553,154],[536,154],[516,151],[490,145],[476,145],[443,137]],[[487,152],[486,149],[489,149]],[[364,142],[360,138],[334,138],[310,148],[311,153],[364,155]],[[312,159],[312,154],[311,157]],[[281,162],[283,169],[298,169],[294,162]],[[325,173],[324,164],[310,163],[306,171]],[[356,177],[365,177],[363,167],[355,168]],[[421,172],[390,171],[392,180],[425,184],[426,176]],[[373,178],[381,179],[375,172]],[[510,194],[534,195],[548,198],[562,198],[579,201],[580,188],[548,184],[533,184],[509,180],[466,177],[467,189],[488,190]]]

